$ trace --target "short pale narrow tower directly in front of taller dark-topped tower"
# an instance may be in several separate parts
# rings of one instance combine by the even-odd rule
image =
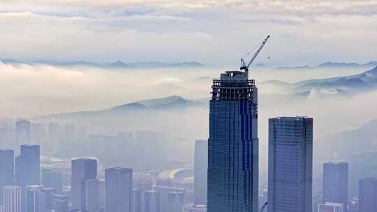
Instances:
[[[90,179],[85,181],[85,211],[99,212],[99,180]]]

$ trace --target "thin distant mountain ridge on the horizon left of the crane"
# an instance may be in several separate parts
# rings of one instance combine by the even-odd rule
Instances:
[[[175,67],[188,67],[188,68],[199,68],[203,67],[202,63],[197,61],[180,62],[180,63],[162,63],[158,61],[147,61],[147,62],[131,62],[126,63],[124,61],[116,61],[112,63],[98,63],[89,61],[49,61],[49,60],[39,60],[39,61],[17,61],[15,59],[0,59],[1,63],[4,64],[17,64],[26,63],[29,65],[43,64],[48,66],[62,66],[62,67],[94,67],[94,68],[175,68]]]

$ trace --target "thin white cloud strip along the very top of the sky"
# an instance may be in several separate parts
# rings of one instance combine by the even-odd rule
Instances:
[[[376,15],[377,1],[352,0],[34,0],[34,6],[59,7],[131,7],[151,6],[169,10],[244,10],[275,15]],[[13,0],[0,3],[2,7],[29,6],[30,1]]]

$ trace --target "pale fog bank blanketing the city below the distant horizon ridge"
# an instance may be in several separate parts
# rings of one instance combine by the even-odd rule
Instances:
[[[26,118],[36,123],[87,126],[94,134],[101,132],[113,135],[118,131],[138,130],[163,132],[172,142],[186,141],[181,146],[180,154],[169,160],[189,163],[193,157],[193,141],[208,137],[208,101],[212,79],[223,70],[236,69],[237,67],[93,68],[2,63],[0,71],[4,89],[0,91],[3,102],[0,111],[3,117]],[[250,76],[256,79],[259,91],[261,173],[267,172],[269,117],[316,117],[314,142],[315,153],[318,154],[328,150],[325,143],[330,135],[355,130],[377,117],[377,91],[374,89],[362,89],[350,84],[348,87],[340,86],[348,93],[334,88],[313,87],[308,90],[309,93],[303,94],[281,85],[283,82],[293,84],[309,79],[358,75],[369,69],[371,68],[251,68]],[[140,102],[146,108],[113,108],[158,98],[162,99],[151,103]],[[113,111],[98,112],[109,109]],[[70,112],[92,114],[69,115]],[[167,142],[166,145],[166,149],[169,149],[171,146],[168,145],[174,143]],[[51,154],[44,152],[43,148],[42,153]],[[317,165],[319,172],[318,159],[314,160],[314,165]],[[168,158],[163,160],[168,161]]]

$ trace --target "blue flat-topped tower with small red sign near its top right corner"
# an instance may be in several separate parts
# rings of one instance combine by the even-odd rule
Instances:
[[[269,119],[268,211],[312,211],[313,119]]]

